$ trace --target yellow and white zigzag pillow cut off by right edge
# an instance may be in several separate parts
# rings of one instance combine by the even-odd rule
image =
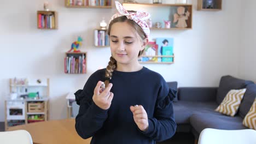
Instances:
[[[256,130],[256,98],[254,99],[251,109],[243,119],[243,125]]]

